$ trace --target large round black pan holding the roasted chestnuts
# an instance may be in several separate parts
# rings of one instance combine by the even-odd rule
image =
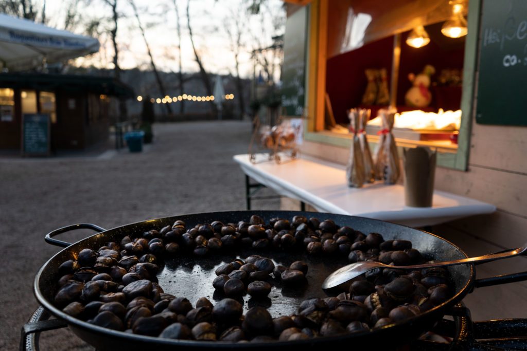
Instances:
[[[458,265],[448,267],[451,276],[451,285],[453,286],[453,296],[444,304],[437,306],[426,313],[417,317],[405,320],[402,323],[394,324],[384,328],[376,329],[365,333],[348,334],[339,337],[314,338],[296,342],[275,342],[269,343],[210,343],[197,342],[192,340],[170,340],[148,336],[134,335],[124,332],[116,332],[111,329],[98,327],[80,319],[71,317],[63,313],[53,305],[53,296],[56,292],[56,282],[58,266],[67,259],[71,259],[83,248],[97,249],[108,242],[120,242],[125,235],[139,236],[146,230],[160,229],[163,226],[171,225],[177,219],[182,219],[187,223],[187,227],[193,227],[199,223],[211,223],[213,220],[220,220],[223,223],[237,223],[239,220],[249,220],[252,214],[257,214],[264,218],[266,222],[274,217],[291,218],[295,215],[304,215],[307,217],[318,217],[320,220],[333,219],[340,226],[346,225],[360,230],[363,233],[377,232],[381,233],[385,239],[406,239],[411,240],[413,246],[421,253],[435,260],[452,260],[467,257],[465,253],[454,244],[433,234],[422,232],[414,228],[409,228],[393,223],[382,222],[362,217],[324,214],[324,213],[307,213],[307,212],[284,212],[284,211],[240,211],[240,212],[216,212],[202,213],[193,215],[182,215],[167,218],[147,220],[145,222],[128,224],[121,227],[104,230],[93,225],[75,225],[57,229],[46,236],[46,241],[60,246],[67,246],[61,252],[53,256],[39,270],[35,277],[34,292],[35,296],[45,309],[57,318],[65,320],[73,332],[82,338],[85,342],[93,345],[98,350],[126,349],[126,350],[168,350],[174,347],[196,349],[203,347],[210,348],[253,348],[253,349],[287,349],[290,347],[302,348],[319,348],[324,347],[350,347],[350,346],[374,346],[374,349],[382,345],[400,345],[408,340],[414,339],[430,330],[438,320],[440,320],[447,308],[460,301],[473,287],[475,270],[473,265]],[[80,227],[90,227],[101,233],[80,240],[75,244],[61,242],[52,238],[56,234],[63,233]],[[254,252],[245,250],[237,253],[240,257],[246,257]],[[159,284],[165,292],[180,297],[187,297],[192,303],[195,303],[199,297],[206,296],[211,300],[221,298],[215,296],[212,288],[212,279],[214,269],[222,262],[230,262],[235,255],[230,256],[209,256],[207,258],[196,258],[192,256],[181,256],[169,260],[165,263],[164,268],[158,274]],[[320,289],[320,284],[325,277],[333,270],[343,264],[346,259],[331,260],[323,258],[313,258],[305,254],[286,254],[273,252],[270,250],[265,256],[275,260],[280,264],[289,264],[299,258],[305,260],[310,272],[308,273],[309,285],[305,292],[288,290],[281,288],[276,284],[269,295],[270,300],[263,304],[269,308],[273,317],[279,315],[289,315],[295,312],[301,300],[308,297],[326,297],[326,294]],[[213,301],[214,303],[214,301]],[[256,303],[245,297],[244,308],[252,307]],[[390,347],[391,348],[391,347]]]

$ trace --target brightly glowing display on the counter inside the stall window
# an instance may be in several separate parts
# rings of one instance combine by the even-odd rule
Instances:
[[[437,113],[424,112],[421,110],[402,112],[395,114],[394,128],[418,130],[437,130],[437,131],[458,131],[461,127],[461,110],[443,111],[439,109]],[[380,117],[375,117],[368,122],[368,125],[382,126]]]

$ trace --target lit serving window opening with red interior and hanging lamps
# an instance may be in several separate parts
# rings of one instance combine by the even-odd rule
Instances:
[[[350,108],[369,108],[373,119],[379,109],[392,106],[399,113],[394,129],[395,137],[401,142],[398,144],[423,144],[456,152],[461,123],[465,37],[446,35],[445,26],[450,22],[445,20],[451,16],[458,18],[466,15],[468,1],[455,1],[455,12],[452,3],[446,0],[427,3],[429,7],[441,9],[432,17],[424,16],[423,9],[408,7],[408,11],[403,13],[408,21],[401,21],[395,16],[400,12],[396,6],[386,9],[393,16],[382,17],[369,2],[359,0],[347,3],[350,4],[348,17],[353,8],[353,13],[371,13],[372,19],[367,29],[362,30],[368,40],[361,40],[359,45],[352,43],[353,35],[340,33],[338,28],[328,26],[325,103],[329,104],[326,111],[333,112],[333,115],[317,118],[325,119],[325,129],[329,129],[329,133],[348,134],[346,111]],[[343,6],[338,1],[329,2],[328,23],[346,22],[344,18],[339,19],[346,13],[341,11]],[[382,21],[382,18],[390,21]],[[458,22],[466,26],[464,17]],[[345,27],[356,29],[357,26],[347,23]],[[385,35],[390,32],[392,35]],[[397,38],[399,44],[396,49]],[[397,60],[396,51],[399,55]],[[392,75],[395,77],[395,89],[391,85]],[[372,135],[370,139],[375,142],[382,127],[378,121],[372,122],[366,132]],[[317,131],[328,133],[320,129]]]

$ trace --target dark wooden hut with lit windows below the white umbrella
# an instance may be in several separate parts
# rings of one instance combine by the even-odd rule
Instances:
[[[134,93],[110,77],[2,73],[0,149],[48,155],[106,141],[111,96]]]

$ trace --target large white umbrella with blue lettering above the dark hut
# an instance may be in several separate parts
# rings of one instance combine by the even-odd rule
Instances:
[[[0,14],[0,63],[11,70],[34,68],[99,51],[99,41]]]

